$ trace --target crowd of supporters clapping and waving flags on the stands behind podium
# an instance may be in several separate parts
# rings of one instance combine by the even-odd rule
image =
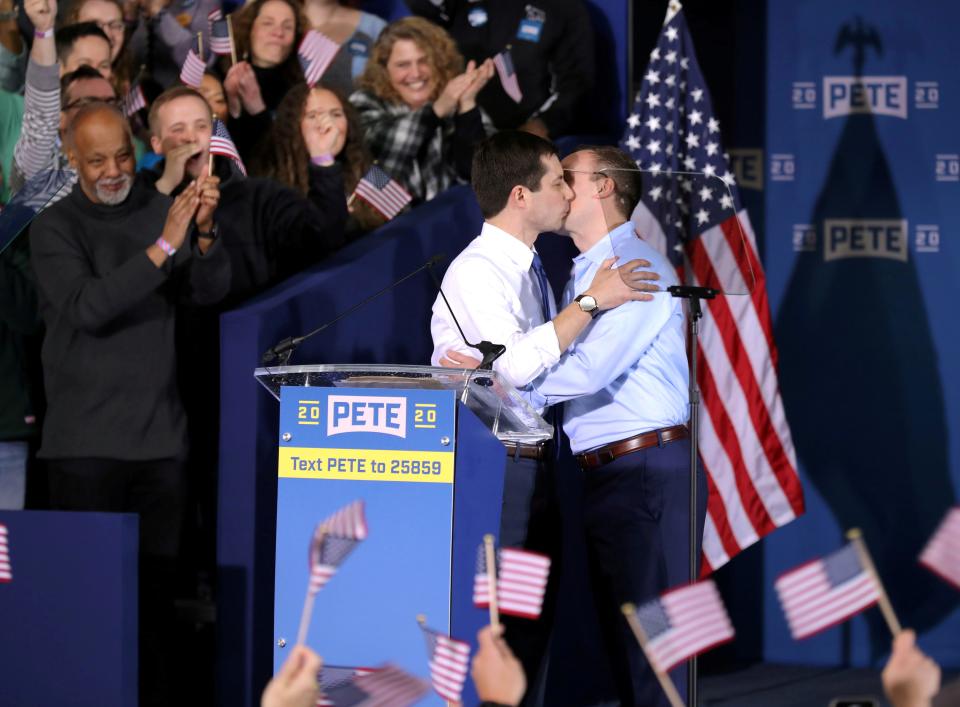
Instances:
[[[173,554],[183,565],[189,548],[190,572],[173,590],[166,566],[143,575],[163,585],[141,597],[147,606],[212,576],[219,314],[390,220],[356,196],[373,166],[417,208],[469,180],[473,147],[492,132],[577,127],[573,108],[593,81],[580,2],[487,2],[482,16],[468,2],[407,5],[412,15],[388,23],[337,0],[0,0],[0,206],[39,214],[23,229],[23,219],[0,220],[0,508],[142,515],[101,487],[84,495],[77,475],[90,487],[96,466],[129,486],[142,465],[173,460],[158,472],[177,480],[158,492],[173,500],[156,527],[177,544],[171,526],[182,523],[189,542]],[[229,17],[229,52],[212,51],[218,11]],[[298,48],[311,30],[339,49],[308,84]],[[520,101],[495,70],[505,50]],[[203,71],[186,86],[191,56]],[[210,156],[220,124],[235,160]],[[116,173],[90,157],[110,140]],[[162,277],[145,269],[143,233],[140,251],[98,250],[124,239],[128,223],[167,238],[184,209],[193,221],[172,248],[183,254],[145,251]],[[180,277],[188,253],[198,265]],[[141,259],[124,270],[128,257]],[[189,286],[206,270],[219,273],[216,297]],[[223,273],[229,285],[219,287]],[[148,356],[160,363],[145,367]],[[159,427],[156,410],[136,402],[147,388],[165,411]],[[152,682],[144,703],[167,703],[168,676],[142,675]]]

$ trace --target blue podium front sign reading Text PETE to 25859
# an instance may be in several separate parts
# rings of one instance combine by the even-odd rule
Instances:
[[[429,680],[416,617],[450,630],[455,429],[452,391],[281,390],[275,670],[296,641],[314,529],[359,499],[368,535],[317,594],[307,645],[329,665]]]

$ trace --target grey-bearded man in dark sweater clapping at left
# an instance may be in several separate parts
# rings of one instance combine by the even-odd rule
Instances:
[[[139,514],[140,704],[166,704],[186,452],[174,320],[177,302],[229,286],[219,193],[204,175],[175,200],[135,183],[129,126],[107,104],[77,112],[66,146],[79,181],[30,237],[47,328],[39,456],[54,509]]]

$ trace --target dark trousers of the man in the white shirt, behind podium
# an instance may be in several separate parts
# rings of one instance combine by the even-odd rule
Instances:
[[[551,458],[540,462],[508,457],[503,479],[500,547],[520,547],[547,555],[551,560],[540,617],[536,620],[506,615],[501,618],[504,639],[527,676],[527,696],[522,703],[525,705],[535,702],[545,677],[542,671],[556,614],[560,578],[560,508],[552,455],[548,456]]]

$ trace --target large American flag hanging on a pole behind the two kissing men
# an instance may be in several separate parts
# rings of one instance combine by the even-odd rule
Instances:
[[[644,238],[687,284],[752,289],[720,295],[703,311],[697,378],[707,573],[802,514],[804,504],[763,269],[679,3],[667,11],[621,147],[646,170],[633,215]]]

